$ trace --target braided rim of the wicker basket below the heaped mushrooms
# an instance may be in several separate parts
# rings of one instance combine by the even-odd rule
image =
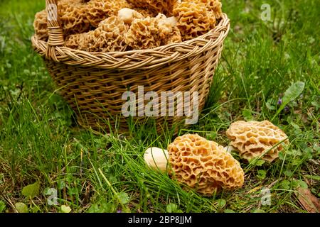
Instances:
[[[144,70],[177,62],[206,50],[218,48],[220,44],[223,44],[229,30],[230,20],[227,14],[223,13],[218,25],[208,33],[181,43],[162,45],[153,49],[122,52],[87,52],[65,46],[55,46],[55,57],[48,57],[46,55],[48,42],[39,40],[36,35],[31,37],[31,42],[34,50],[42,57],[45,57],[46,60],[101,69]]]

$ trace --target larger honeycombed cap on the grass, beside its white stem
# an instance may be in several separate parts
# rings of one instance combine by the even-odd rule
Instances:
[[[172,174],[177,181],[210,196],[235,189],[244,182],[240,163],[223,146],[199,135],[182,135],[168,146]]]

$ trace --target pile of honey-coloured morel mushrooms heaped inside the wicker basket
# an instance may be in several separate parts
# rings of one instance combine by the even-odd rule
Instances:
[[[65,46],[88,52],[144,50],[191,40],[215,28],[220,0],[59,0]],[[36,36],[48,40],[46,10]]]

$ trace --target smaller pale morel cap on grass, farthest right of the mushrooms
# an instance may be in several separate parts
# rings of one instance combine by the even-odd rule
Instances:
[[[280,142],[289,143],[287,135],[270,121],[237,121],[231,124],[226,134],[231,140],[231,145],[247,160],[259,157],[270,150],[262,160],[272,162],[283,149]]]

